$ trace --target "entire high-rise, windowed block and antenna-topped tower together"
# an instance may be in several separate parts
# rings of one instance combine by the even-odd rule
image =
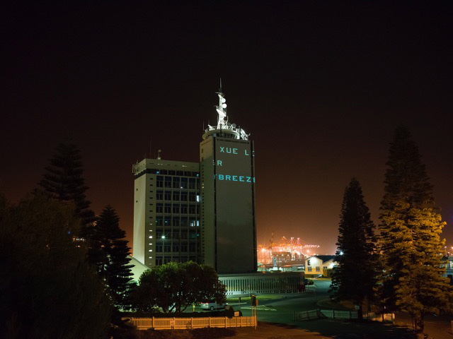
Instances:
[[[253,142],[229,123],[217,95],[217,125],[202,135],[200,162],[158,157],[132,167],[134,258],[150,268],[193,260],[219,274],[257,270]]]

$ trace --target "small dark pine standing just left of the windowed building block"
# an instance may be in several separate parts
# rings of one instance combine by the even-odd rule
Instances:
[[[126,233],[120,228],[120,218],[112,206],[106,206],[94,227],[92,250],[98,266],[98,273],[104,278],[110,290],[113,304],[118,309],[128,309],[128,293],[132,283],[130,247],[125,240]]]

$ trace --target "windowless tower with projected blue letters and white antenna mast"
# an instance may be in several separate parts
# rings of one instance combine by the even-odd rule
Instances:
[[[257,270],[253,141],[228,122],[220,90],[217,126],[200,143],[202,255],[217,273]]]

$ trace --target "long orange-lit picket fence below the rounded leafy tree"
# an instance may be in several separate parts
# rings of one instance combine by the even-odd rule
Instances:
[[[139,330],[188,330],[204,327],[251,327],[256,326],[255,316],[226,316],[205,318],[129,318],[130,323]]]

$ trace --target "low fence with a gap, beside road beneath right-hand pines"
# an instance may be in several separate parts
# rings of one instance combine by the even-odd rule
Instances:
[[[312,309],[311,311],[294,312],[293,320],[309,320],[316,318],[329,318],[329,319],[357,319],[357,311],[338,311],[336,309]],[[395,322],[394,313],[374,314],[372,312],[364,313],[363,319],[372,321]]]

